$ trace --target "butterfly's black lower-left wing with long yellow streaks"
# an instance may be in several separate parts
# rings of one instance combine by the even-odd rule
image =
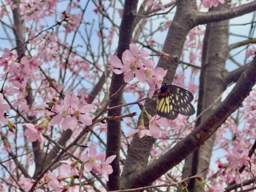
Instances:
[[[171,120],[178,116],[177,110],[175,109],[175,99],[171,94],[158,97],[156,100],[156,113],[160,117]]]

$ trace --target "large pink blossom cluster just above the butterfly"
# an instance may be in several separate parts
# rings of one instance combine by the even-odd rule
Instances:
[[[149,97],[154,95],[155,87],[160,89],[164,76],[167,70],[163,68],[154,68],[154,61],[145,59],[149,53],[144,49],[139,51],[135,44],[130,44],[130,49],[127,49],[122,54],[122,61],[116,56],[110,56],[110,63],[115,74],[124,74],[126,83],[132,81],[136,77],[140,82],[147,82],[149,85]]]

